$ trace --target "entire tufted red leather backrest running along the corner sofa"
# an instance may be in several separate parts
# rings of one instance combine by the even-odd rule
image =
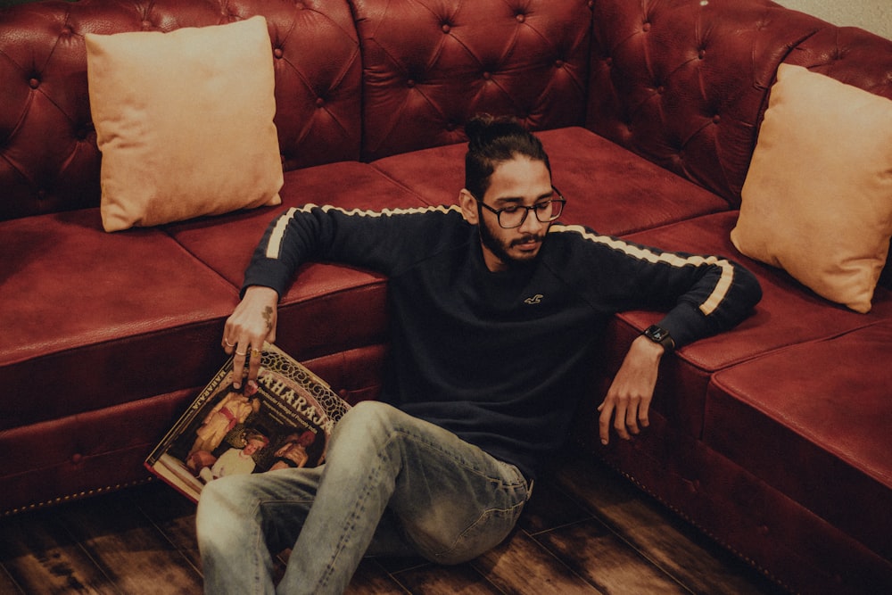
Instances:
[[[770,0],[48,0],[0,10],[0,220],[98,205],[85,33],[255,14],[285,169],[459,142],[475,112],[510,113],[584,124],[737,206],[780,62],[892,97],[892,42]]]

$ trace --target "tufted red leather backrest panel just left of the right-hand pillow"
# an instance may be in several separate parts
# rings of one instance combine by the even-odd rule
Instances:
[[[827,23],[768,0],[599,0],[587,126],[739,206],[775,70]]]

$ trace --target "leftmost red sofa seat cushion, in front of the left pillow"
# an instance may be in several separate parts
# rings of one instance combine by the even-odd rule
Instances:
[[[206,382],[237,291],[158,229],[98,209],[0,223],[0,430]]]

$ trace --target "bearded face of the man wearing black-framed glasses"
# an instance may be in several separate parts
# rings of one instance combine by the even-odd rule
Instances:
[[[518,156],[503,161],[492,172],[490,187],[483,203],[495,210],[513,206],[533,206],[548,200],[552,194],[551,176],[545,163]],[[550,223],[541,223],[534,212],[528,212],[523,225],[511,229],[500,226],[495,213],[471,202],[470,194],[462,194],[466,218],[480,229],[483,260],[491,271],[505,270],[514,264],[533,260],[541,249]],[[475,201],[474,201],[475,202]],[[473,208],[473,216],[468,213]],[[476,220],[475,220],[476,219]]]

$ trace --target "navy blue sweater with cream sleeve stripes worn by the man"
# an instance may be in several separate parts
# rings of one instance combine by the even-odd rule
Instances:
[[[755,277],[729,260],[559,223],[533,262],[493,273],[458,207],[291,209],[268,227],[244,287],[282,295],[308,260],[388,276],[384,401],[527,477],[566,438],[610,315],[667,311],[660,324],[681,346],[737,324],[761,297]]]

